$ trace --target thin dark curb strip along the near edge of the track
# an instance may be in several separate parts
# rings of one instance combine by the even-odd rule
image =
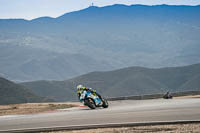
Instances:
[[[36,133],[36,132],[51,132],[51,131],[62,131],[62,130],[84,130],[84,129],[96,129],[96,128],[117,128],[117,127],[132,127],[132,126],[192,124],[192,123],[200,123],[200,120],[150,121],[150,122],[74,125],[74,126],[66,126],[66,127],[65,126],[63,126],[63,127],[40,127],[40,128],[27,128],[27,129],[0,130],[0,133]]]

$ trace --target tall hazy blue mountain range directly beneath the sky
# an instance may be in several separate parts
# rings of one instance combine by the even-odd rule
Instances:
[[[199,63],[199,12],[200,6],[113,5],[57,18],[1,19],[0,74],[62,80],[129,66]]]

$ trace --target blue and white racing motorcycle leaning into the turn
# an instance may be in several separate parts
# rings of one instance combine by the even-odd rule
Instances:
[[[97,107],[108,108],[108,101],[106,99],[99,98],[90,91],[83,91],[80,96],[80,101],[83,101],[84,105],[91,109],[96,109]]]

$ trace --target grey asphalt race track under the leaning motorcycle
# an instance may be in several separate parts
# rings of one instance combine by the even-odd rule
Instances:
[[[200,120],[198,98],[123,100],[109,104],[107,109],[75,107],[49,113],[0,116],[0,132],[94,124]]]

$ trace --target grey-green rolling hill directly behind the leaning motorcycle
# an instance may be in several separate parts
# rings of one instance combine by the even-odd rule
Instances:
[[[40,96],[58,101],[75,100],[76,86],[95,88],[106,97],[200,91],[200,64],[184,67],[150,69],[129,67],[107,72],[91,72],[65,81],[22,83]]]

